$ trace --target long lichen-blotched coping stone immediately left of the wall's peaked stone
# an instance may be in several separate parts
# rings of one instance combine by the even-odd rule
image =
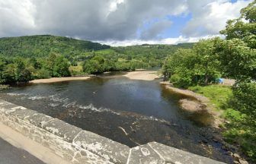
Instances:
[[[114,163],[126,163],[130,148],[90,131],[82,131],[75,137],[74,144]]]

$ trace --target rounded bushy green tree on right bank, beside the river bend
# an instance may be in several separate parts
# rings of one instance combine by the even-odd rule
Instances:
[[[178,49],[165,61],[162,68],[165,79],[183,88],[216,82],[220,76],[220,62],[215,52],[217,41],[219,38],[201,40],[193,49]]]

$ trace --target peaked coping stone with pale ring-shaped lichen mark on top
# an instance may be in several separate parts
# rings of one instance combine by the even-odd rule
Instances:
[[[155,153],[155,150],[153,150],[149,145],[141,145],[139,147],[133,147],[131,149],[130,158],[128,159],[129,164],[160,164],[165,163],[165,160],[162,159],[158,153]]]

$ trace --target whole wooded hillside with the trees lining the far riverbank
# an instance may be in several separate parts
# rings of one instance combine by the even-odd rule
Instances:
[[[110,47],[50,35],[1,38],[0,83],[162,67],[168,55],[192,46],[193,43]]]

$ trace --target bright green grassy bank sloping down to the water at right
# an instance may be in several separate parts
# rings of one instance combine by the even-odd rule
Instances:
[[[256,162],[255,127],[248,123],[247,116],[232,107],[232,88],[221,85],[189,87],[210,99],[213,110],[220,112],[220,117],[226,121],[222,124],[222,136],[229,144],[241,148],[251,162]]]

